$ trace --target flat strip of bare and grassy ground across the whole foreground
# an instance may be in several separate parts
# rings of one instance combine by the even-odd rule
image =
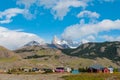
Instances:
[[[120,80],[120,73],[0,74],[0,80]]]

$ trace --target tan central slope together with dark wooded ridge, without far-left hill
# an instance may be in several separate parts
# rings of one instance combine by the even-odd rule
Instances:
[[[85,43],[76,49],[27,46],[15,52],[24,60],[39,67],[87,67],[95,63],[118,67],[119,45],[119,42]]]

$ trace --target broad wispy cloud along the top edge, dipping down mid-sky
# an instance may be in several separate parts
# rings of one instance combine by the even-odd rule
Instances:
[[[62,20],[64,16],[70,11],[70,8],[88,6],[88,2],[91,0],[18,0],[18,5],[24,5],[25,8],[30,9],[33,5],[43,6],[45,9],[50,9],[55,19]]]

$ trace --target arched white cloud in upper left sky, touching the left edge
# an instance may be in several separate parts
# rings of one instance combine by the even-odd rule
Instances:
[[[26,19],[34,18],[34,14],[31,14],[27,9],[10,8],[0,12],[0,24],[12,22],[12,18],[19,14],[23,15]]]

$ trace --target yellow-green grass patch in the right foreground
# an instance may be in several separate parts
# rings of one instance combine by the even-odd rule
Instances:
[[[120,73],[81,73],[63,77],[65,80],[120,80]]]

